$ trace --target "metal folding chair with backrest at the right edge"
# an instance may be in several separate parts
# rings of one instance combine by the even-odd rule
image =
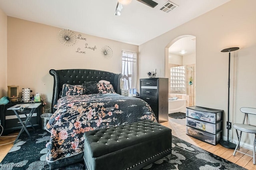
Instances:
[[[242,124],[241,123],[234,123],[234,125],[233,125],[233,128],[236,129],[236,134],[237,134],[237,137],[238,137],[238,143],[236,145],[236,148],[234,150],[233,155],[235,156],[236,152],[246,154],[244,152],[241,152],[241,151],[237,150],[237,149],[240,148],[240,140],[241,140],[242,132],[254,133],[255,137],[254,137],[254,143],[253,143],[253,156],[248,155],[248,154],[246,154],[246,155],[253,157],[253,164],[255,165],[256,126],[244,124],[244,121],[245,121],[246,117],[248,119],[248,114],[256,115],[256,108],[242,107],[240,109],[240,111],[242,113],[244,113],[244,120],[243,120]],[[238,135],[238,130],[240,130],[240,135]]]

